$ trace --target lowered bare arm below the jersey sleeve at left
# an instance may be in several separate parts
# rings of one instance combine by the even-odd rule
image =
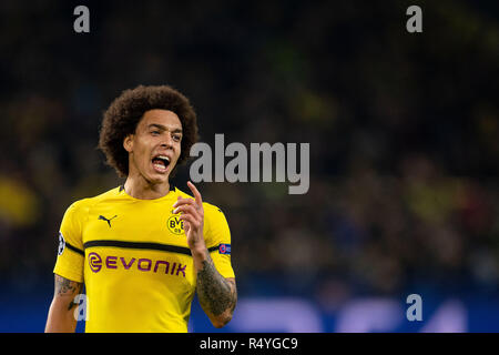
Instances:
[[[55,274],[55,290],[47,317],[45,333],[73,333],[77,328],[74,318],[74,297],[80,294],[82,283]]]

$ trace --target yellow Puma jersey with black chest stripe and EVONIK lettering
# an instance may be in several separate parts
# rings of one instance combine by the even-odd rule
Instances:
[[[85,284],[85,332],[187,332],[196,273],[173,189],[138,200],[123,186],[74,202],[64,213],[53,272]],[[223,212],[203,203],[203,235],[216,270],[234,277]]]

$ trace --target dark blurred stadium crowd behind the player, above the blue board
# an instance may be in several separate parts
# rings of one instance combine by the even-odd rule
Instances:
[[[73,31],[78,4],[90,33]],[[422,33],[406,31],[410,4]],[[0,293],[50,302],[65,209],[122,183],[96,150],[103,111],[165,83],[191,99],[203,142],[310,144],[307,194],[198,184],[227,216],[240,297],[497,294],[498,8],[2,1]],[[174,183],[187,179],[189,165]]]

